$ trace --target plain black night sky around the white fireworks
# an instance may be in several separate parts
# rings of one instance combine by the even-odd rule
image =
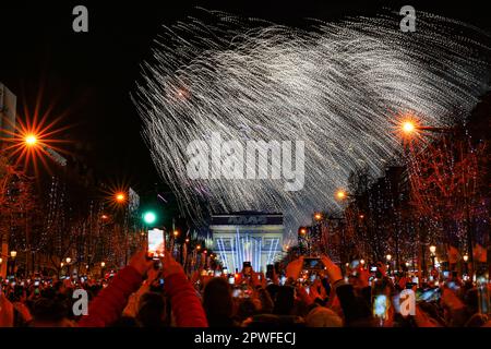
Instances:
[[[432,4],[421,4],[424,2]],[[21,116],[24,104],[34,107],[44,86],[41,110],[53,104],[52,115],[67,111],[62,123],[73,127],[64,136],[79,143],[77,147],[71,145],[76,156],[100,177],[145,191],[159,180],[141,137],[130,93],[139,79],[139,64],[149,58],[151,43],[161,24],[184,20],[195,5],[299,25],[304,17],[335,21],[346,15],[371,15],[384,7],[398,11],[411,4],[417,11],[489,29],[491,21],[484,4],[424,2],[1,1],[0,81],[19,96]],[[72,31],[76,4],[88,8],[87,34]]]

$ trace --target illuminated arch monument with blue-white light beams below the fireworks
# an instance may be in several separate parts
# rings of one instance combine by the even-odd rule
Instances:
[[[283,214],[239,212],[213,215],[213,250],[229,273],[242,269],[251,262],[256,272],[266,272],[266,265],[282,257]]]

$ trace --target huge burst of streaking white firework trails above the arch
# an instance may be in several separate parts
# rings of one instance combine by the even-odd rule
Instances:
[[[283,212],[296,231],[312,212],[338,207],[334,192],[351,170],[376,176],[400,151],[402,115],[439,127],[465,116],[487,88],[479,55],[488,49],[463,34],[476,29],[419,13],[417,32],[402,33],[399,21],[386,14],[298,29],[202,11],[164,27],[134,100],[181,207],[196,219],[203,203],[215,212]],[[190,180],[187,146],[212,132],[303,141],[303,189],[287,192],[273,179]]]

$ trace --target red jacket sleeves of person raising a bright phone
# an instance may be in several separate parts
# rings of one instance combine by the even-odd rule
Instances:
[[[143,281],[132,267],[121,269],[88,305],[88,315],[79,322],[81,327],[106,327],[120,316],[131,293]],[[179,327],[207,327],[206,315],[200,299],[184,274],[173,274],[166,279],[166,292],[170,297],[176,325]]]

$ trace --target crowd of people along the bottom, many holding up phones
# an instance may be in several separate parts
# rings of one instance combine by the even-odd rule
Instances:
[[[304,270],[303,257],[283,270],[187,275],[169,254],[136,253],[110,279],[26,278],[1,281],[1,327],[491,327],[472,280],[456,275],[439,285],[414,284],[358,265],[343,274],[326,255]],[[304,280],[304,281],[302,281]],[[88,312],[75,314],[84,289]],[[415,313],[403,315],[398,296],[411,289]]]

